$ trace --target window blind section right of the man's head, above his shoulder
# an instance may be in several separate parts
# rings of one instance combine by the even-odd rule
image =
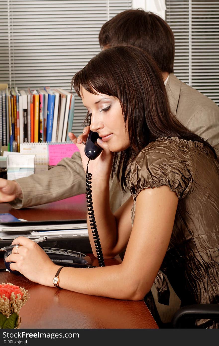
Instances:
[[[219,105],[218,0],[166,0],[175,36],[174,73]]]

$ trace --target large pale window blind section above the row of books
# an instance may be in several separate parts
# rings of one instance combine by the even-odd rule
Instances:
[[[73,75],[100,52],[104,22],[131,5],[128,0],[0,1],[0,82],[18,89],[59,86],[69,91]],[[75,135],[81,133],[85,113],[76,96]]]

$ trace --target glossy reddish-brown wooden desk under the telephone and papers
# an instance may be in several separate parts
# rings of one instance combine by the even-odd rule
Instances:
[[[37,215],[41,220],[47,220],[48,215],[50,219],[54,217],[57,220],[57,215],[69,219],[70,213],[75,217],[81,215],[83,219],[86,216],[85,203],[85,196],[80,195],[20,210],[1,203],[0,210],[26,220],[36,220]],[[97,260],[92,255],[90,257],[97,265]],[[105,260],[105,263],[116,265],[120,259]],[[0,258],[0,268],[3,267]],[[20,328],[158,328],[144,301],[117,300],[51,288],[9,272],[0,272],[0,275],[1,282],[11,282],[29,291],[30,298],[20,310]]]

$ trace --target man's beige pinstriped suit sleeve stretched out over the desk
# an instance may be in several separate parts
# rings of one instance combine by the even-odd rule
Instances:
[[[54,168],[15,180],[21,187],[23,199],[11,202],[16,208],[55,202],[85,193],[85,172],[79,152],[65,157]]]

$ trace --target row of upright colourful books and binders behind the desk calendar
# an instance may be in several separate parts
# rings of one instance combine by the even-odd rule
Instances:
[[[69,142],[74,100],[62,88],[9,89],[0,84],[0,145],[20,152],[24,143]]]

